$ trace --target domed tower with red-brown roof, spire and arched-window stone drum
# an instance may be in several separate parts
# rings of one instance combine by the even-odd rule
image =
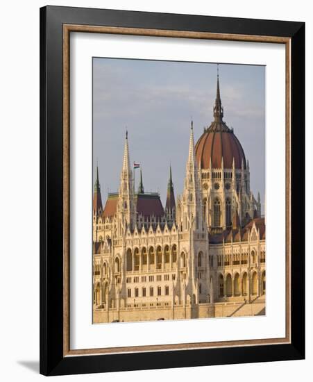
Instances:
[[[230,229],[236,211],[241,226],[260,216],[260,208],[250,190],[250,169],[244,149],[233,129],[223,121],[223,115],[217,72],[214,120],[204,128],[196,143],[196,161],[201,169],[199,177],[203,190],[203,219],[212,233]]]

